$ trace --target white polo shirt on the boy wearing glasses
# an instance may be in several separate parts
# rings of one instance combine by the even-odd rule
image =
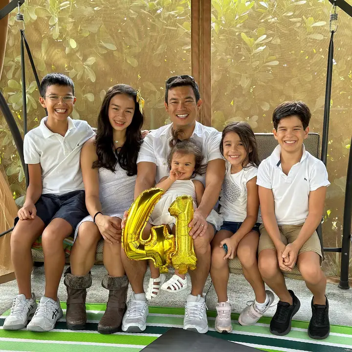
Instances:
[[[51,132],[44,117],[39,127],[24,136],[23,153],[26,164],[41,164],[42,194],[62,195],[83,190],[80,155],[83,144],[95,133],[87,121],[67,118],[68,130],[63,137]]]

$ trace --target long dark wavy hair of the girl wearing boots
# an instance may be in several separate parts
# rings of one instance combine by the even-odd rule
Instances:
[[[112,137],[113,129],[109,121],[109,105],[111,98],[116,94],[131,96],[135,107],[132,122],[126,129],[126,141],[115,152]],[[144,113],[142,114],[139,110],[136,96],[137,91],[131,86],[124,84],[118,84],[109,88],[105,94],[98,116],[98,131],[95,139],[98,160],[94,161],[93,168],[103,167],[114,172],[116,163],[118,162],[121,168],[127,171],[128,176],[137,174],[137,156],[140,145],[142,144],[141,128],[144,122]]]

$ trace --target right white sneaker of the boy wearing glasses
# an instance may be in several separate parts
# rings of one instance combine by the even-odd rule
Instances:
[[[30,331],[50,331],[55,328],[56,321],[63,316],[60,301],[54,301],[48,297],[42,297],[38,308],[27,325]]]

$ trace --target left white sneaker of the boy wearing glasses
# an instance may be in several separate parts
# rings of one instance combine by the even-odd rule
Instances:
[[[4,330],[20,330],[23,329],[28,320],[33,316],[37,309],[35,294],[32,293],[30,299],[26,299],[21,294],[14,298],[10,315],[5,319],[2,329]]]

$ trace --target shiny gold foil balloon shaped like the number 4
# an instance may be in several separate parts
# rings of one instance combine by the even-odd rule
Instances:
[[[155,204],[163,194],[161,188],[151,188],[134,200],[122,230],[121,242],[128,258],[152,259],[160,272],[167,272],[171,256],[176,251],[174,236],[169,234],[165,225],[153,226],[148,240],[143,240],[141,236]]]

